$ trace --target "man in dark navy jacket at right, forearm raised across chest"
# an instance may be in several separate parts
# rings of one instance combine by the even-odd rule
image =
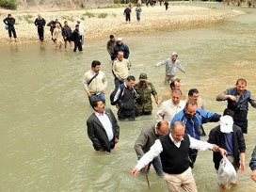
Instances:
[[[235,88],[228,88],[216,96],[216,101],[228,101],[228,108],[234,112],[233,122],[244,134],[248,134],[248,103],[256,108],[256,101],[251,98],[246,79],[238,79]]]

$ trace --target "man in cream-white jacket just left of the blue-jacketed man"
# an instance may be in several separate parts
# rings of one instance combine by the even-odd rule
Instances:
[[[171,99],[165,101],[159,107],[156,113],[156,120],[172,120],[176,113],[184,109],[185,102],[181,100],[182,91],[180,89],[172,90]]]

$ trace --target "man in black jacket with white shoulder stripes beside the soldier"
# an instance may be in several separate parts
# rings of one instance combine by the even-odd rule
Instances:
[[[128,76],[126,81],[121,84],[114,95],[112,104],[117,104],[119,108],[119,120],[135,120],[136,118],[136,89],[134,88],[136,78],[132,75]]]

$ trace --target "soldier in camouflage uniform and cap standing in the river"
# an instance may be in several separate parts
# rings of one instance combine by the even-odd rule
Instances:
[[[157,92],[152,83],[147,81],[148,76],[145,72],[139,75],[139,82],[136,84],[136,116],[152,114],[152,95],[155,103],[158,104]]]

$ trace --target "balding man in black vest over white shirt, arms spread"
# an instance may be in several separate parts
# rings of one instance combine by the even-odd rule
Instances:
[[[226,151],[215,144],[212,145],[186,135],[184,129],[182,121],[173,122],[170,134],[155,141],[151,150],[139,159],[136,167],[132,169],[131,175],[136,176],[141,168],[147,166],[155,156],[160,154],[168,191],[179,191],[179,188],[183,187],[184,191],[197,192],[197,185],[189,167],[189,148],[201,151],[213,150],[220,152],[223,156]]]

